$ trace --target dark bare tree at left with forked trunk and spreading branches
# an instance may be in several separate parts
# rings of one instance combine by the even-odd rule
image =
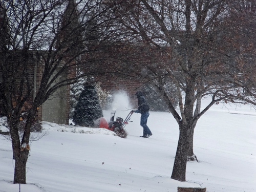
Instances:
[[[76,82],[79,76],[72,73],[79,66],[87,68],[83,75],[99,73],[100,63],[93,65],[92,53],[102,52],[107,34],[101,31],[100,39],[89,34],[106,25],[100,15],[109,7],[101,2],[1,0],[0,104],[10,126],[14,183],[26,183],[31,125],[40,105],[60,87]],[[36,65],[42,74],[33,90]],[[24,112],[27,121],[20,137],[18,123]]]

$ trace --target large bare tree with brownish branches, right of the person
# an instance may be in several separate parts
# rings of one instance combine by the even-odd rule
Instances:
[[[193,136],[198,119],[219,102],[255,103],[255,81],[250,78],[248,83],[249,71],[245,71],[248,62],[239,67],[241,56],[249,52],[252,56],[255,44],[248,47],[242,41],[239,46],[238,20],[230,19],[232,13],[241,15],[242,10],[234,11],[236,2],[223,0],[114,2],[113,12],[128,33],[127,40],[136,42],[133,49],[140,54],[132,52],[130,59],[137,62],[130,62],[129,69],[154,84],[179,125],[171,178],[185,181],[187,160],[197,160]],[[232,37],[233,33],[237,36]],[[242,45],[248,49],[239,51]],[[176,87],[178,110],[168,96],[170,84]],[[201,109],[205,96],[212,99]]]

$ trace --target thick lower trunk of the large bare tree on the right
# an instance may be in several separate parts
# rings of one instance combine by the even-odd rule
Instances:
[[[173,173],[170,178],[178,181],[186,181],[186,165],[188,154],[188,137],[187,137],[187,125],[182,122],[179,125],[180,136],[178,141],[178,147],[174,160]]]

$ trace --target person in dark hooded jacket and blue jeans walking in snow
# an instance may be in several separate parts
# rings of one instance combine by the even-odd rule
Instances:
[[[150,113],[148,112],[150,110],[150,106],[148,105],[146,98],[142,95],[141,91],[137,91],[135,95],[138,98],[138,110],[132,112],[141,114],[140,125],[143,127],[143,135],[140,137],[148,138],[152,136],[152,132],[146,125],[147,118],[150,116]]]

